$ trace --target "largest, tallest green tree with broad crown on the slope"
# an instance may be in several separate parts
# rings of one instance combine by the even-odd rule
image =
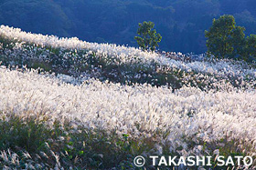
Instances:
[[[222,15],[214,19],[205,32],[208,53],[218,58],[242,58],[245,53],[245,28],[237,26],[233,15]]]

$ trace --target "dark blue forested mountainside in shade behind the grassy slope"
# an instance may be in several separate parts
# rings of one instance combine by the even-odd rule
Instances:
[[[204,53],[204,31],[219,15],[234,15],[256,33],[255,0],[1,0],[0,24],[25,31],[136,45],[138,23],[153,21],[160,49]]]

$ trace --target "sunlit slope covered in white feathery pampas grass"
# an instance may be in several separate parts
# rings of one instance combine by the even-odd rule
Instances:
[[[255,158],[255,65],[5,25],[0,43],[0,167],[135,169],[133,158],[144,155],[155,169],[149,155]]]

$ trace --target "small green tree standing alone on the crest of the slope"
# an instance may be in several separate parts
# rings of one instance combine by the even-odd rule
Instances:
[[[155,47],[159,46],[158,43],[162,40],[162,36],[157,34],[155,29],[153,29],[154,26],[155,24],[151,21],[144,21],[143,24],[139,23],[137,34],[140,36],[135,36],[134,39],[144,50],[150,49],[151,51],[155,51]]]

